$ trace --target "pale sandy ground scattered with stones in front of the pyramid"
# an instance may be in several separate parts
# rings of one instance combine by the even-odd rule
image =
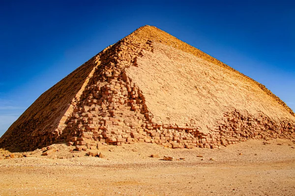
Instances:
[[[9,152],[0,150],[0,196],[294,196],[295,142],[266,143],[220,149],[103,145],[103,158],[71,153],[65,145],[56,145],[51,156],[35,150],[30,157],[3,159]],[[164,155],[185,159],[164,161]]]

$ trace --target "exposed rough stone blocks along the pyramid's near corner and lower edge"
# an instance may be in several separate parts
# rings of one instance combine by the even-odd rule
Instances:
[[[151,50],[152,42],[148,42],[147,46],[151,48],[145,50]],[[132,52],[122,53],[118,62],[121,63],[125,59],[123,56],[132,58],[137,55]],[[105,62],[104,59],[101,60],[100,63]],[[136,66],[144,66],[139,60],[137,63]],[[133,62],[133,65],[129,66],[135,64],[136,62]],[[66,128],[60,131],[60,142],[67,141],[68,145],[86,146],[89,149],[95,148],[97,143],[122,145],[138,142],[156,143],[172,148],[218,148],[248,139],[291,139],[295,136],[294,124],[277,123],[262,112],[254,116],[235,108],[231,108],[231,112],[223,113],[222,118],[213,126],[208,124],[203,129],[202,124],[192,122],[163,123],[149,110],[146,93],[128,76],[128,66],[122,64],[122,67],[124,69],[118,66],[117,69],[98,71],[104,76],[92,80],[92,85],[84,91],[81,96],[83,101],[75,105]]]

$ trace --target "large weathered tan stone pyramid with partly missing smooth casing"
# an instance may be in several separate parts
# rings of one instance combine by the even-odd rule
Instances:
[[[295,138],[295,114],[280,98],[146,25],[37,98],[0,138],[0,147],[146,142],[215,148],[268,138]]]

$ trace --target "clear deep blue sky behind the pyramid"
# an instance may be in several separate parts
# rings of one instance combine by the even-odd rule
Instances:
[[[294,2],[0,0],[0,136],[43,92],[143,25],[252,77],[295,111]]]

